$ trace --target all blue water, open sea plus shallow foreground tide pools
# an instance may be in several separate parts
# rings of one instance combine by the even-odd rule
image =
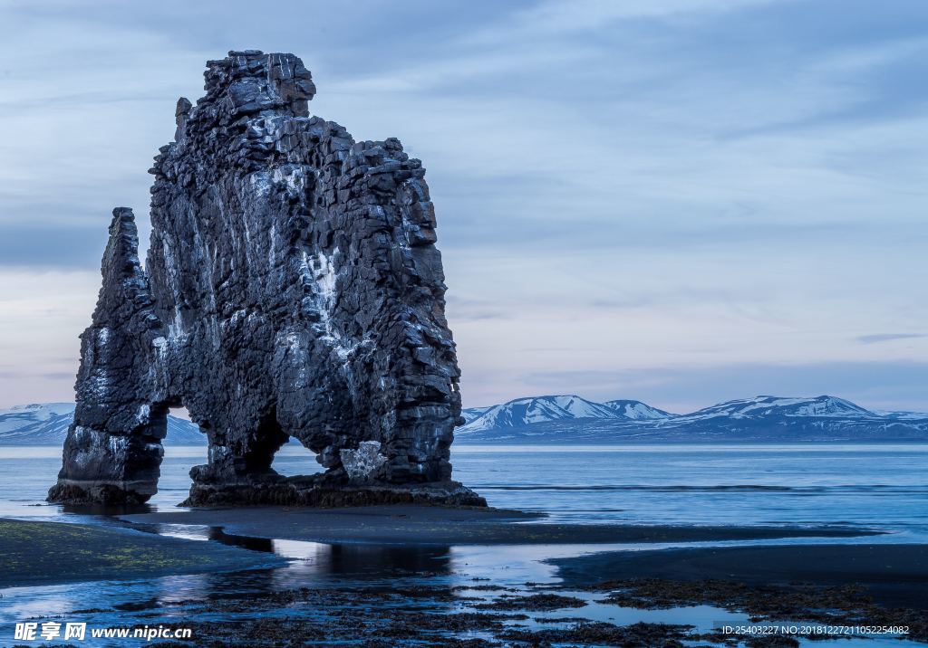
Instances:
[[[191,466],[205,462],[205,448],[167,448],[160,491],[152,504],[174,509],[187,495]],[[548,513],[578,524],[620,522],[684,525],[821,525],[879,528],[883,536],[857,539],[797,539],[782,542],[923,542],[928,540],[928,445],[884,446],[622,446],[485,447],[459,446],[453,451],[455,476],[498,507]],[[0,515],[42,517],[113,524],[106,518],[65,514],[44,502],[60,466],[57,448],[0,448]],[[309,451],[290,447],[278,452],[274,467],[288,475],[318,470]],[[161,525],[166,535],[207,540],[205,527]],[[238,539],[235,543],[238,543]],[[222,541],[222,540],[220,540]],[[769,542],[769,541],[767,541]],[[724,542],[719,544],[738,544]],[[709,544],[709,543],[698,543]],[[556,582],[553,566],[541,562],[604,549],[602,546],[452,546],[379,547],[327,545],[290,540],[258,540],[246,544],[290,559],[284,567],[248,572],[171,576],[138,581],[73,583],[9,588],[0,592],[0,644],[12,636],[15,622],[25,618],[70,618],[91,627],[136,626],[169,621],[196,623],[197,602],[228,591],[352,588],[375,583],[397,589],[417,583],[466,587],[474,578],[524,588],[526,581]],[[666,545],[649,545],[661,548]],[[492,598],[492,592],[465,591]],[[747,616],[700,605],[669,610],[637,610],[592,602],[584,608],[532,613],[538,616],[584,616],[617,624],[638,621],[689,623],[700,631],[719,624],[738,625]],[[118,611],[139,601],[187,602],[153,619],[144,611]],[[191,608],[188,604],[193,605]],[[462,602],[455,609],[467,609]],[[286,614],[295,614],[288,609]],[[228,620],[248,616],[228,616]],[[312,611],[306,614],[315,614]],[[358,609],[356,614],[363,615]],[[225,617],[206,615],[212,620]],[[535,621],[528,622],[537,626]],[[837,642],[837,643],[836,643]],[[821,645],[806,642],[803,645]],[[893,637],[835,640],[841,646],[894,646]],[[122,641],[121,646],[145,645]]]

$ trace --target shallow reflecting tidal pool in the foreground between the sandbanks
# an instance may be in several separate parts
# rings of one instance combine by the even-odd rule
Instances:
[[[155,528],[157,527],[157,528]],[[170,526],[152,526],[151,532],[170,535]],[[187,533],[193,533],[188,529]],[[68,586],[12,588],[0,598],[0,636],[10,636],[12,625],[23,620],[44,621],[60,616],[84,621],[89,627],[143,626],[157,623],[236,622],[266,616],[310,617],[326,625],[347,616],[389,622],[389,610],[419,610],[436,614],[472,611],[474,602],[495,598],[498,591],[462,589],[483,584],[511,591],[545,591],[527,588],[527,581],[557,581],[551,565],[539,562],[559,555],[601,550],[591,546],[401,546],[324,544],[296,540],[270,540],[226,533],[221,527],[200,527],[200,540],[209,540],[290,559],[277,568],[227,573],[152,578],[138,581],[104,581]],[[189,536],[188,536],[189,537]],[[313,592],[316,592],[314,595]],[[353,598],[352,592],[382,591]],[[320,593],[321,592],[321,593]],[[690,623],[708,631],[719,623],[742,624],[748,617],[712,606],[666,610],[639,610],[604,604],[600,593],[559,591],[582,598],[583,608],[533,611],[523,623],[531,629],[551,627],[548,620],[582,616],[619,625],[640,621]],[[324,602],[324,603],[320,603]],[[887,640],[888,641],[888,640]],[[893,640],[893,645],[897,640]],[[145,645],[127,640],[120,645]],[[400,645],[398,642],[396,645]],[[883,645],[870,642],[869,645]],[[889,644],[886,644],[889,645]]]

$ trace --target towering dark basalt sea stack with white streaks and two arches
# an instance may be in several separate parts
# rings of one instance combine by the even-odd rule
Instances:
[[[145,502],[170,407],[210,441],[188,504],[485,505],[451,479],[458,364],[425,171],[309,117],[290,54],[230,52],[177,102],[152,233],[113,211],[53,502]],[[290,437],[327,471],[271,469]]]

